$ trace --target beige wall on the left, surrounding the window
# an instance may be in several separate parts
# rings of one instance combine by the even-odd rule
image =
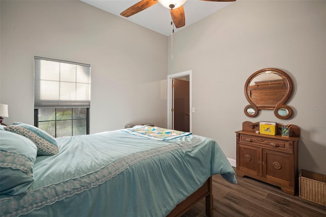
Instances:
[[[80,1],[1,1],[5,123],[34,123],[34,56],[91,64],[91,133],[166,127],[168,37]]]

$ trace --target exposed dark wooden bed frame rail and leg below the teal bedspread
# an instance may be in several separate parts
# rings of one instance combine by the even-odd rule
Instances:
[[[183,215],[204,197],[206,197],[206,215],[213,216],[212,177],[209,177],[196,192],[179,203],[167,216],[174,217]]]

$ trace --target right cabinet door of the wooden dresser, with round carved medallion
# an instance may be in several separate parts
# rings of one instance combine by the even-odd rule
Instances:
[[[291,175],[294,168],[293,154],[268,149],[263,149],[262,153],[263,177],[282,185],[290,185],[291,179],[294,179]]]

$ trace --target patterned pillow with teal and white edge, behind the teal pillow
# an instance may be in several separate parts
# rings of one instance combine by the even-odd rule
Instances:
[[[32,140],[37,146],[38,155],[55,155],[59,153],[57,140],[40,128],[28,124],[18,124],[6,126],[5,130],[18,133]]]

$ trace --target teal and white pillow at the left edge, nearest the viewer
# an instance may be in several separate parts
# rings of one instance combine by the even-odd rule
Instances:
[[[22,135],[0,130],[0,194],[25,193],[34,182],[37,147]]]

